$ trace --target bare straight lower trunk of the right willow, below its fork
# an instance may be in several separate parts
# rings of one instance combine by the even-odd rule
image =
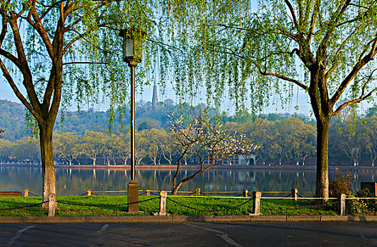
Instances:
[[[321,198],[328,198],[329,195],[328,143],[330,119],[331,117],[317,119],[317,180],[315,183],[315,196]]]

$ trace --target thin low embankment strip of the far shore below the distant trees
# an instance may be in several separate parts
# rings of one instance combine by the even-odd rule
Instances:
[[[39,165],[30,165],[30,164],[2,164],[0,167],[40,167]],[[101,164],[55,164],[55,168],[69,168],[69,169],[131,169],[129,165],[101,165]],[[366,170],[366,171],[377,171],[377,167],[366,167],[366,166],[359,166],[359,167],[353,167],[353,166],[331,166],[329,167],[330,170],[334,170],[335,168],[340,169],[342,171],[349,171],[349,170]],[[137,165],[135,169],[140,170],[154,170],[154,169],[160,169],[160,170],[174,170],[177,169],[176,165],[169,165],[169,164],[160,164],[160,165]],[[197,170],[200,169],[199,166],[193,166],[193,165],[181,165],[180,169],[183,170]],[[222,166],[216,166],[212,167],[211,169],[243,169],[243,170],[255,170],[255,169],[261,169],[261,170],[315,170],[317,167],[315,165],[310,166],[303,166],[303,165],[275,165],[275,166],[268,166],[268,165],[222,165]]]

